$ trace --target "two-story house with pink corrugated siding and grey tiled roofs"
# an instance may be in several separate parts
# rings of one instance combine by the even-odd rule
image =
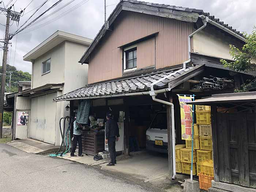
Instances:
[[[203,10],[121,0],[80,59],[81,64],[89,64],[89,84],[54,101],[70,101],[77,109],[78,101],[90,99],[90,114],[95,118],[105,118],[110,107],[116,120],[124,121],[125,154],[136,148],[134,143],[145,148],[150,122],[157,112],[165,112],[167,117],[159,119],[159,127],[166,125],[166,137],[153,138],[151,145],[168,150],[173,177],[174,135],[176,144],[185,143],[177,94],[196,92],[201,98],[230,93],[234,86],[239,88],[241,79],[252,78],[253,73],[231,71],[219,61],[232,59],[229,44],[241,47],[244,41],[239,31]],[[234,86],[195,89],[203,77],[211,76],[234,80]],[[174,113],[169,103],[173,103]],[[165,139],[166,145],[154,142]],[[86,153],[89,147],[84,148]]]

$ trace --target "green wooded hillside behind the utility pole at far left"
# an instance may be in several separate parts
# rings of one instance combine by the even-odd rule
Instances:
[[[30,81],[31,74],[28,72],[18,71],[16,67],[8,65],[6,66],[6,79],[5,79],[5,92],[9,92],[9,80],[10,72],[12,72],[11,77],[11,92],[18,91],[18,81]],[[0,67],[0,72],[2,72],[2,67]]]

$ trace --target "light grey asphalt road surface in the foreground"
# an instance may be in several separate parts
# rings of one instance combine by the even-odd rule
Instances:
[[[152,191],[124,178],[46,155],[0,144],[0,191]]]

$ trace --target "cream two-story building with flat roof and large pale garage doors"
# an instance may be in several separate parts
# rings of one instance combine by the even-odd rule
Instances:
[[[24,57],[32,63],[31,89],[8,95],[14,106],[15,138],[33,138],[60,145],[59,120],[69,114],[68,102],[55,103],[53,98],[87,84],[87,65],[79,65],[81,54],[92,40],[56,31]],[[25,112],[27,123],[20,125]]]

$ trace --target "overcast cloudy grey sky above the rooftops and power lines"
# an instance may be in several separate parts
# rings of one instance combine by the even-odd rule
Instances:
[[[10,0],[3,0],[6,6]],[[13,4],[16,0],[11,0]],[[63,0],[59,5],[48,12],[49,15],[58,8],[62,7],[64,4],[71,0]],[[12,46],[9,48],[8,64],[14,65],[18,70],[27,71],[31,73],[31,63],[23,61],[23,56],[28,53],[31,49],[37,46],[39,43],[44,41],[50,35],[52,35],[57,30],[66,31],[68,33],[73,33],[76,35],[81,35],[83,37],[93,39],[98,33],[99,29],[104,23],[104,0],[74,0],[72,3],[67,5],[67,7],[61,9],[55,14],[49,16],[49,18],[39,22],[38,24],[31,26],[23,33],[18,34],[17,45],[15,36],[11,42]],[[246,31],[251,33],[253,25],[256,25],[256,1],[255,0],[145,0],[152,3],[161,3],[168,5],[176,5],[182,7],[202,9],[204,12],[210,12],[215,18],[219,18],[224,21],[229,26],[239,31]],[[15,11],[20,11],[24,9],[31,0],[17,0],[14,8]],[[32,3],[25,9],[25,15],[20,18],[19,26],[22,25],[30,16],[33,14],[36,7],[42,4],[44,0],[33,0]],[[52,4],[57,2],[57,0],[48,0],[48,2],[38,10],[38,14],[42,13]],[[80,2],[85,2],[83,5],[78,6],[74,11],[60,17],[65,11],[72,10],[72,7],[79,4]],[[113,11],[119,0],[106,0],[107,16]],[[114,5],[113,5],[114,4]],[[3,3],[0,4],[3,7]],[[12,9],[13,10],[13,9]],[[33,11],[31,11],[33,10]],[[31,11],[31,12],[29,12]],[[35,14],[35,18],[38,14]],[[46,16],[45,15],[45,16]],[[56,17],[59,16],[59,19]],[[31,18],[30,20],[33,20]],[[52,23],[49,23],[53,21]],[[6,17],[3,13],[0,14],[0,34],[4,37],[4,30],[6,23]],[[49,23],[46,25],[46,23]],[[11,22],[12,24],[12,22]],[[44,24],[44,25],[43,25]],[[34,29],[38,25],[41,28]],[[11,26],[10,32],[14,32],[17,29],[17,25],[14,22]],[[26,33],[25,33],[26,32]],[[16,45],[16,54],[15,54]],[[1,51],[0,59],[2,62],[3,51]],[[15,60],[14,60],[15,57]]]

